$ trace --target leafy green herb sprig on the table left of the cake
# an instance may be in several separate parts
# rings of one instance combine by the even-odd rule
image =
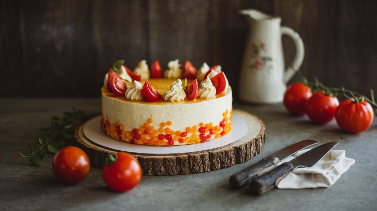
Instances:
[[[28,142],[29,151],[20,155],[29,159],[35,166],[41,167],[41,160],[47,152],[55,154],[63,147],[72,146],[77,126],[98,114],[73,108],[72,111],[64,112],[62,118],[51,117],[51,125],[39,129],[44,133],[43,138],[38,138],[35,145]]]

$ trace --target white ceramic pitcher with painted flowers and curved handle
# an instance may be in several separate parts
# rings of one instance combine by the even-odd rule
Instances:
[[[280,27],[280,17],[272,17],[255,9],[240,13],[249,21],[250,31],[242,62],[239,97],[251,103],[280,103],[286,84],[302,64],[302,39],[291,28]],[[296,55],[286,70],[282,35],[290,36],[296,45]]]

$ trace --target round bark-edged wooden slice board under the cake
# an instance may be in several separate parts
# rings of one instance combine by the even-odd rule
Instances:
[[[246,122],[248,131],[244,137],[230,145],[214,150],[179,155],[130,154],[135,156],[140,162],[143,175],[184,175],[201,173],[227,168],[248,161],[260,153],[264,146],[265,125],[262,120],[248,112],[233,109],[233,114],[236,114]],[[106,156],[118,150],[106,149],[92,143],[84,135],[84,125],[85,124],[76,129],[75,138],[81,145],[81,148],[89,156],[90,163],[95,167],[102,168]],[[256,129],[259,130],[259,132],[255,131]],[[100,130],[100,126],[98,126],[98,130]]]

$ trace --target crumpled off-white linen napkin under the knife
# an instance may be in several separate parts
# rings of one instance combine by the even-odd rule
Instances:
[[[288,162],[309,150],[310,149],[297,152],[284,160],[284,162]],[[300,189],[330,187],[354,163],[354,159],[346,158],[345,150],[331,150],[313,167],[300,167],[291,171],[277,184],[277,188]]]

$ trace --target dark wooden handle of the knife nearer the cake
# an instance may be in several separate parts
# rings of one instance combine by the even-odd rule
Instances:
[[[251,180],[257,178],[270,171],[279,164],[279,158],[270,155],[266,158],[261,159],[253,165],[245,168],[241,172],[235,173],[229,178],[229,183],[231,187],[239,189],[247,185]]]

